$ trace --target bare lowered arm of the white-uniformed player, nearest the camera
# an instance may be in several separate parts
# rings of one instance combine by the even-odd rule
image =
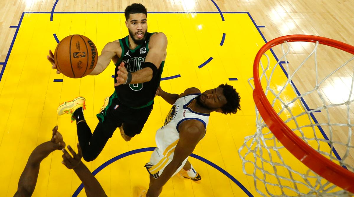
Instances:
[[[165,167],[162,174],[150,185],[147,197],[158,197],[162,186],[182,166],[183,161],[192,154],[195,146],[204,137],[204,124],[198,120],[186,120],[179,125],[179,141],[173,153],[172,161]]]

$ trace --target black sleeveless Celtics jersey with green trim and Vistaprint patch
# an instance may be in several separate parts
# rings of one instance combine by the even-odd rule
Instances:
[[[143,63],[145,62],[146,55],[149,52],[149,41],[150,36],[153,33],[147,33],[145,42],[135,49],[131,50],[129,48],[128,37],[126,36],[119,39],[120,46],[122,48],[122,54],[118,62],[115,64],[114,70],[114,83],[117,82],[117,71],[118,66],[121,62],[124,62],[124,66],[128,72],[133,73],[138,70],[143,69]],[[161,74],[164,68],[165,61],[162,61],[158,69],[158,74],[153,77],[148,82],[137,83],[137,84],[127,84],[115,86],[115,92],[118,96],[119,101],[131,108],[143,108],[153,104],[156,89],[160,85]]]

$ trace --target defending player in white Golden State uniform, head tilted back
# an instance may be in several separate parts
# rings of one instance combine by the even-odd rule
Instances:
[[[240,110],[240,96],[235,88],[221,84],[201,94],[188,88],[182,94],[170,94],[158,88],[156,95],[172,105],[165,124],[156,132],[156,149],[145,165],[150,174],[147,197],[158,197],[162,186],[180,170],[185,178],[194,181],[201,176],[188,162],[188,156],[204,137],[210,112],[235,114]]]

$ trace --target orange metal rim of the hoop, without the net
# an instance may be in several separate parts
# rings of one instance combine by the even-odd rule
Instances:
[[[304,163],[308,168],[333,184],[354,193],[354,173],[330,161],[311,146],[306,144],[281,120],[278,114],[269,103],[259,79],[259,61],[262,55],[270,48],[287,42],[316,42],[338,48],[342,51],[354,54],[354,46],[328,39],[320,36],[312,35],[288,35],[278,37],[267,42],[257,53],[253,63],[253,80],[255,89],[253,90],[253,100],[257,106],[259,114],[261,114],[264,122],[274,136],[281,142],[284,147],[289,150],[298,160]]]

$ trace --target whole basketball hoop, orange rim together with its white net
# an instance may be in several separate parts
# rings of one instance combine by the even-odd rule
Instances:
[[[312,54],[315,54],[315,63],[316,64],[317,64],[317,62],[316,62],[316,48],[317,48],[317,46],[319,44],[327,45],[327,46],[330,46],[330,47],[334,47],[334,48],[337,48],[337,49],[342,50],[342,51],[346,51],[346,52],[354,55],[354,46],[351,46],[351,45],[348,45],[348,44],[344,44],[343,42],[339,42],[339,41],[336,41],[336,40],[328,39],[328,38],[325,38],[325,37],[311,36],[311,35],[288,35],[288,36],[278,37],[278,38],[273,39],[273,40],[269,41],[268,43],[266,43],[258,51],[258,53],[256,55],[256,58],[255,58],[255,61],[254,61],[254,64],[253,64],[253,80],[254,80],[254,85],[255,85],[255,89],[253,90],[253,99],[254,99],[255,104],[256,104],[257,133],[255,135],[246,137],[244,145],[242,145],[242,147],[239,150],[239,153],[240,153],[241,150],[246,147],[247,151],[248,151],[245,154],[245,156],[242,156],[242,154],[240,153],[241,159],[243,161],[244,168],[245,168],[245,163],[250,162],[250,161],[247,161],[245,159],[248,154],[252,153],[253,155],[255,155],[255,160],[257,160],[256,157],[258,158],[259,155],[262,156],[262,154],[263,154],[262,150],[261,150],[261,153],[257,155],[256,152],[257,152],[257,150],[259,151],[259,149],[257,149],[257,147],[255,148],[255,146],[262,147],[262,148],[266,147],[266,145],[264,145],[264,141],[266,141],[267,139],[270,139],[270,138],[265,138],[264,137],[264,135],[267,135],[268,133],[264,133],[264,132],[262,133],[262,129],[264,127],[268,127],[269,130],[276,137],[276,139],[274,138],[274,140],[279,140],[280,143],[289,152],[291,152],[291,154],[293,156],[295,156],[299,161],[301,161],[303,164],[305,164],[310,170],[312,170],[313,172],[315,172],[319,176],[323,177],[327,181],[330,181],[331,183],[341,187],[342,189],[354,193],[354,173],[353,173],[353,170],[350,171],[350,170],[348,170],[346,168],[343,168],[342,166],[345,166],[345,165],[342,163],[342,161],[340,159],[337,162],[337,163],[340,163],[340,165],[339,165],[339,164],[331,161],[333,159],[330,160],[330,159],[326,158],[324,155],[319,153],[320,152],[319,150],[315,150],[313,147],[308,145],[308,143],[306,143],[304,141],[304,139],[308,139],[308,138],[306,138],[306,137],[300,138],[294,132],[294,130],[296,130],[296,129],[290,129],[289,126],[286,124],[286,122],[284,122],[284,120],[282,120],[280,118],[280,116],[279,116],[279,114],[282,111],[286,111],[286,110],[290,109],[290,108],[288,108],[289,103],[293,103],[293,102],[295,102],[295,100],[302,99],[302,97],[304,95],[307,95],[309,92],[304,93],[302,95],[297,95],[297,97],[294,98],[289,103],[283,102],[279,98],[279,94],[280,93],[276,94],[274,91],[272,92],[273,93],[272,96],[274,96],[275,98],[274,98],[272,104],[269,102],[269,100],[268,100],[269,98],[267,98],[267,92],[269,93],[269,91],[271,91],[270,90],[271,88],[269,86],[271,85],[270,84],[270,79],[272,78],[274,70],[272,71],[270,76],[268,75],[268,78],[267,78],[267,75],[265,74],[265,72],[269,68],[270,60],[269,60],[269,57],[267,56],[267,54],[265,54],[265,52],[270,50],[272,47],[275,47],[275,46],[280,45],[280,44],[281,44],[281,47],[283,47],[282,46],[283,43],[285,45],[289,46],[289,50],[288,50],[288,52],[289,52],[290,51],[290,44],[289,44],[290,42],[311,42],[311,43],[314,43],[315,44],[315,49],[307,57],[307,59],[310,58],[312,56]],[[281,60],[284,59],[284,58],[285,58],[285,62],[287,62],[286,61],[286,54],[288,52],[285,53],[284,52],[284,48],[282,48],[282,51],[284,53],[284,56],[282,56],[282,58],[280,58],[280,60],[278,60],[277,64],[280,64]],[[267,59],[268,59],[267,68],[263,68],[263,65],[262,65],[262,62],[261,62],[261,58],[262,58],[263,55],[265,55],[267,57]],[[305,59],[302,64],[304,64],[304,62],[306,62],[307,59]],[[350,62],[353,59],[354,59],[354,57],[350,58],[342,66],[346,65],[348,62]],[[298,67],[298,69],[301,68],[302,64]],[[260,67],[259,65],[261,65],[262,71],[259,70],[259,67]],[[342,66],[340,68],[342,68]],[[274,66],[274,69],[275,69],[275,66]],[[298,69],[296,69],[294,71],[294,73]],[[333,71],[330,75],[335,73],[338,69]],[[316,72],[317,72],[317,65],[316,65]],[[318,75],[316,75],[316,77],[317,76]],[[327,76],[327,78],[329,76]],[[264,91],[264,89],[262,87],[262,84],[261,84],[262,77],[264,77],[263,80],[265,79],[267,81],[267,87],[265,88],[266,91]],[[293,86],[295,86],[295,85],[293,85],[293,83],[291,81],[291,77],[292,76],[290,76],[290,74],[289,74],[289,76],[287,76],[287,77],[288,77],[288,79],[287,79],[287,82],[285,83],[285,86],[279,88],[280,92],[283,91],[286,86],[290,86],[292,89],[294,89]],[[325,79],[327,79],[327,78],[325,78]],[[353,77],[353,80],[352,80],[352,89],[353,89],[353,81],[354,81],[354,77]],[[317,79],[316,79],[316,83],[318,83]],[[295,89],[294,89],[294,91],[295,91]],[[315,87],[313,89],[313,91],[310,91],[310,92],[316,92],[316,91],[317,91],[317,89]],[[352,91],[350,91],[348,101],[342,103],[343,106],[347,105],[348,109],[349,109],[349,104],[354,101],[354,100],[350,100],[350,96],[351,95],[352,95]],[[279,103],[282,104],[282,109],[278,113],[273,108],[276,99],[278,99],[278,101],[280,100]],[[301,104],[301,105],[303,105],[303,104]],[[331,105],[331,106],[333,106],[333,105]],[[308,115],[308,117],[310,117],[309,114],[315,112],[316,110],[326,109],[327,107],[329,107],[329,105],[328,106],[324,105],[323,107],[320,106],[319,108],[314,109],[314,110],[304,109],[304,112],[301,115]],[[258,112],[259,112],[259,114],[258,114]],[[348,113],[349,113],[349,110],[348,110]],[[291,113],[291,111],[290,111],[290,114],[291,114],[292,117],[289,118],[289,120],[291,120],[291,119],[295,120],[295,118],[294,118],[295,115],[293,115]],[[296,117],[298,117],[298,116],[296,116]],[[348,118],[349,118],[349,115],[348,115]],[[287,121],[287,122],[289,122],[289,121]],[[310,120],[310,122],[312,122],[312,120]],[[350,123],[350,121],[349,121],[349,123]],[[332,125],[332,123],[330,121],[327,124],[328,125]],[[311,123],[308,127],[321,127],[321,125],[325,125],[325,123],[323,123],[323,124]],[[333,125],[335,125],[335,124],[333,124]],[[297,128],[302,128],[302,127],[297,125]],[[349,136],[350,136],[351,135],[351,124],[348,124],[348,128],[349,128]],[[315,134],[315,136],[316,136],[316,134]],[[257,140],[253,140],[252,143],[250,143],[250,145],[247,145],[246,142],[250,141],[252,138],[258,138],[258,141]],[[326,141],[326,140],[322,140],[322,141]],[[331,141],[329,141],[327,143],[330,144]],[[274,141],[274,144],[275,144],[275,141]],[[349,150],[351,151],[353,149],[353,147],[354,147],[353,144],[350,144],[350,139],[349,139],[349,143],[345,144],[345,145],[347,146],[347,149],[348,149],[347,152],[349,152]],[[275,145],[274,145],[274,147],[275,147]],[[274,147],[272,146],[272,148],[274,148]],[[272,149],[272,148],[267,148],[267,149]],[[331,150],[332,149],[333,149],[333,144],[331,144]],[[268,152],[269,152],[269,150],[268,150]],[[279,154],[278,154],[278,156],[279,156]],[[279,156],[279,157],[280,157],[280,160],[282,161],[281,156]],[[269,163],[272,163],[272,158],[270,158],[269,160],[270,160]],[[253,161],[253,162],[256,162],[256,161]],[[265,161],[265,162],[268,162],[268,161]],[[252,163],[252,162],[250,162],[250,163]],[[263,165],[263,160],[262,160],[262,165]],[[292,179],[292,182],[293,182],[294,185],[299,184],[299,182],[297,180],[294,180],[291,177],[292,174],[294,173],[293,170],[291,169],[291,167],[289,167],[284,162],[281,165],[284,166],[285,169],[289,171],[289,173],[290,173],[289,180]],[[254,164],[254,166],[255,166],[255,171],[256,171],[256,169],[259,169],[259,167],[257,167],[256,164]],[[347,164],[347,166],[348,166],[348,164]],[[350,166],[350,169],[353,169],[353,167],[354,166]],[[245,172],[245,169],[244,169],[244,173],[247,174]],[[270,173],[265,173],[265,174],[270,174]],[[275,172],[275,174],[276,174],[276,172]],[[250,174],[247,174],[247,175],[250,175]],[[274,174],[272,174],[272,175],[274,175]],[[273,194],[270,191],[268,191],[267,184],[270,184],[270,185],[273,185],[273,186],[274,185],[279,186],[280,189],[281,189],[281,192],[284,195],[283,188],[282,188],[282,186],[280,184],[281,181],[279,181],[278,177],[277,177],[278,181],[276,181],[278,183],[272,184],[270,182],[265,181],[265,178],[261,179],[261,178],[255,177],[256,176],[255,172],[253,173],[252,176],[255,178],[255,185],[256,185],[256,180],[262,181],[264,183],[264,185],[266,185],[265,187],[266,187],[266,190],[267,190],[269,195],[273,196]],[[306,175],[304,175],[304,176],[306,176]],[[304,180],[306,182],[306,179],[309,176],[308,177],[304,177],[304,176],[302,176],[302,178],[304,178]],[[311,176],[311,177],[314,177],[314,176]],[[280,178],[284,178],[284,177],[280,177]],[[286,179],[286,178],[284,178],[284,179]],[[318,178],[318,179],[321,179],[321,178]],[[321,180],[319,182],[321,182]],[[328,186],[328,184],[329,183],[325,183],[324,185]],[[303,184],[303,185],[308,185],[308,184]],[[293,189],[293,188],[290,188],[288,186],[284,186],[284,188],[285,187],[287,189],[291,189],[291,190],[295,191],[297,195],[304,195],[304,193],[299,192],[299,189],[296,189],[296,188]],[[319,190],[321,190],[321,191],[314,191],[314,190],[316,190],[316,189],[314,189],[314,187],[310,187],[310,186],[308,186],[308,187],[310,188],[310,190],[308,192],[311,193],[311,194],[319,194],[319,193],[322,194],[322,192],[326,193],[324,187],[317,186],[317,187],[320,188]],[[335,186],[332,186],[330,189],[332,190],[334,187]],[[328,189],[327,191],[330,191],[330,189]],[[259,192],[259,193],[261,193],[263,196],[265,196],[262,192]],[[341,193],[341,192],[339,192],[339,193]],[[334,195],[339,195],[339,193],[334,193]],[[348,195],[347,192],[342,192],[342,193]]]

